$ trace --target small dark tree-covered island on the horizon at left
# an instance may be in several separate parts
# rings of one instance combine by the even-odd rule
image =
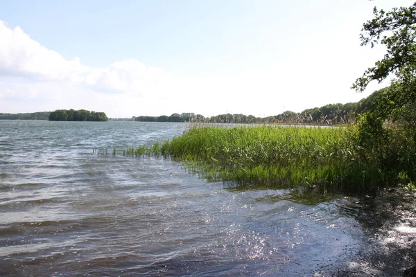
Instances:
[[[85,109],[57,109],[49,114],[49,120],[55,121],[107,121],[105,113]]]

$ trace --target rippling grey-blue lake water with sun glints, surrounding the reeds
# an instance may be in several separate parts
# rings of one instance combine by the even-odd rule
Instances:
[[[184,123],[0,120],[0,276],[401,276],[415,193],[305,204],[94,150]]]

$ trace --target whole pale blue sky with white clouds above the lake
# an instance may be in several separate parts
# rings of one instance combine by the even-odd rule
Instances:
[[[357,102],[374,6],[408,0],[0,0],[0,113],[273,116]]]

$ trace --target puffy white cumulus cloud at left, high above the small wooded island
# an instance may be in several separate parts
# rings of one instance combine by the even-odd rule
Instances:
[[[137,60],[114,62],[106,68],[66,60],[31,39],[19,27],[9,28],[0,21],[0,77],[59,81],[80,84],[97,92],[140,94],[156,91],[169,75]]]

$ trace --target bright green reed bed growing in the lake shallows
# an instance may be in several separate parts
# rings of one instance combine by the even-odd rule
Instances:
[[[361,158],[353,134],[329,127],[194,127],[171,141],[123,154],[162,155],[209,181],[238,187],[359,192],[388,183],[376,163]]]

